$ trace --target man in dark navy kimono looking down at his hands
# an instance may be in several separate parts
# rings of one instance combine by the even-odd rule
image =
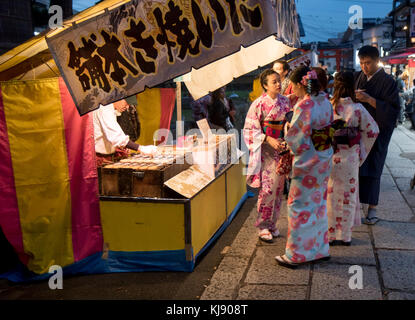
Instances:
[[[359,170],[360,202],[369,205],[363,223],[374,225],[379,221],[376,207],[379,201],[380,178],[399,115],[399,93],[396,81],[378,66],[379,51],[376,47],[363,46],[358,56],[362,71],[355,73],[356,99],[379,126],[379,136]]]

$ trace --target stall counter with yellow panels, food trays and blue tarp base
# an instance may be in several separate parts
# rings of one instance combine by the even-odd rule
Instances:
[[[222,148],[235,142],[230,138],[186,150],[160,147],[159,155],[137,155],[103,167],[104,247],[140,253],[139,270],[193,270],[197,257],[225,230],[248,197],[236,145],[232,151],[227,145]],[[220,150],[226,159],[218,166],[214,162],[220,162]],[[211,164],[194,163],[197,156],[207,159],[211,154],[217,156]]]

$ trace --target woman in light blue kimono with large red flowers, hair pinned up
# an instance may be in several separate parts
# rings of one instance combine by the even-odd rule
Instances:
[[[331,170],[333,107],[321,93],[317,74],[307,67],[293,71],[290,80],[299,101],[285,136],[294,154],[288,195],[288,234],[278,264],[296,268],[328,260],[327,182]]]

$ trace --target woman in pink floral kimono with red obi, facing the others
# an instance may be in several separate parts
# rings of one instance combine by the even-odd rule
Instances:
[[[250,106],[243,135],[249,149],[247,183],[260,188],[258,217],[255,226],[259,238],[272,242],[279,235],[276,222],[280,213],[284,175],[277,174],[280,154],[287,151],[282,140],[285,114],[289,101],[280,95],[280,77],[274,70],[265,70],[260,76],[264,93]]]

